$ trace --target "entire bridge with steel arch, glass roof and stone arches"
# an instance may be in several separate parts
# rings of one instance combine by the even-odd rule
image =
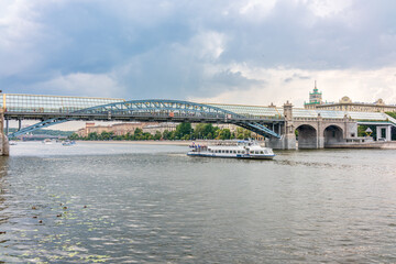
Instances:
[[[0,96],[1,128],[6,128],[0,152],[4,155],[8,138],[67,121],[231,123],[263,135],[270,147],[282,150],[296,148],[296,130],[299,148],[323,148],[364,141],[358,138],[359,124],[376,125],[377,140],[384,141],[391,141],[392,128],[396,128],[396,120],[382,112],[307,110],[293,108],[289,102],[282,107],[260,107],[168,99]],[[19,122],[18,131],[11,134],[9,120]],[[23,120],[37,120],[37,123],[22,129]]]

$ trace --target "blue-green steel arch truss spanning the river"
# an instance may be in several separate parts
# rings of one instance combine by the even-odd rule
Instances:
[[[255,118],[238,114],[218,107],[179,100],[132,100],[86,108],[73,112],[6,112],[6,119],[41,119],[40,123],[11,133],[18,136],[67,121],[143,121],[143,122],[191,122],[232,123],[266,138],[280,135],[265,124],[283,122],[283,119]]]

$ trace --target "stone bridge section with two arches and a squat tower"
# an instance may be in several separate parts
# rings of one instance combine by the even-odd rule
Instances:
[[[358,123],[346,116],[343,119],[323,119],[320,114],[316,118],[294,118],[292,108],[289,102],[284,105],[282,138],[267,140],[267,146],[275,150],[317,150],[358,136]]]

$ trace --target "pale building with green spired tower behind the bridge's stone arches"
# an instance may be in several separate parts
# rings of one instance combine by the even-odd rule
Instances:
[[[339,102],[323,102],[322,94],[318,91],[316,84],[314,92],[309,92],[309,102],[304,103],[305,109],[320,109],[333,111],[355,112],[396,112],[395,105],[385,105],[383,99],[375,102],[353,102],[349,97],[342,97]]]

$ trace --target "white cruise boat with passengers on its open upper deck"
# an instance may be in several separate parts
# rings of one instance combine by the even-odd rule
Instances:
[[[275,157],[272,148],[263,147],[257,142],[252,140],[215,143],[211,145],[199,145],[193,142],[190,147],[191,151],[187,153],[188,156],[234,157],[251,160],[273,160]]]

